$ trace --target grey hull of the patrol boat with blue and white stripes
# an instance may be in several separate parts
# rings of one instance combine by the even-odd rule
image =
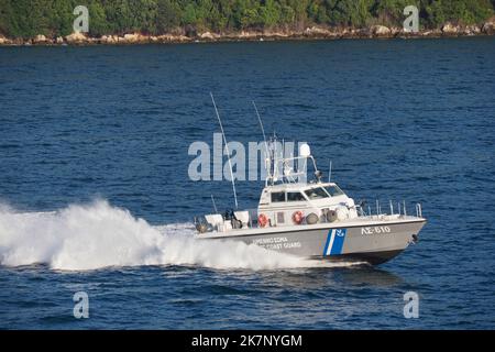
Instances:
[[[318,226],[294,226],[235,233],[204,233],[198,239],[242,241],[266,250],[304,258],[345,262],[385,263],[417,242],[426,219],[349,221]]]

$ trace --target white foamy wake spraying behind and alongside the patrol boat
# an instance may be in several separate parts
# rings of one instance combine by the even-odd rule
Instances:
[[[0,207],[0,264],[48,264],[56,270],[108,266],[196,265],[273,270],[346,266],[307,261],[238,241],[195,240],[190,223],[153,227],[105,200],[55,212]]]

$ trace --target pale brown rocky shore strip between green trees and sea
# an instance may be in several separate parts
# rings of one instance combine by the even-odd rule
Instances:
[[[172,34],[145,35],[141,33],[128,33],[123,35],[102,35],[90,37],[82,33],[73,33],[65,37],[46,37],[38,34],[33,38],[8,38],[0,34],[0,45],[129,45],[150,43],[201,43],[201,42],[239,42],[239,41],[277,41],[277,40],[337,40],[337,38],[415,38],[415,37],[452,37],[494,35],[495,20],[482,25],[454,25],[446,23],[441,29],[424,30],[418,33],[406,32],[399,28],[373,25],[366,29],[322,28],[311,26],[304,31],[242,31],[235,33],[186,33],[177,31]]]

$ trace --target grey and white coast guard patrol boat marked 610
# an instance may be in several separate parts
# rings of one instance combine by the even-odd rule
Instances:
[[[370,207],[355,204],[336,183],[322,180],[308,144],[300,145],[296,157],[277,157],[273,141],[270,144],[257,209],[195,218],[197,239],[242,241],[300,257],[372,265],[395,257],[418,241],[426,223],[420,204],[416,216],[407,215],[405,202],[398,204],[396,212],[391,202],[389,213],[382,213],[376,202],[376,211],[371,213]],[[307,182],[301,177],[304,172],[288,167],[295,162],[312,164],[315,178]]]

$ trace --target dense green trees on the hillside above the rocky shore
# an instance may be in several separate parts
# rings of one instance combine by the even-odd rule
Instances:
[[[89,35],[100,36],[400,26],[409,4],[419,9],[420,28],[433,29],[446,22],[482,23],[494,14],[495,0],[0,0],[0,34],[22,38],[70,34],[73,11],[81,4],[89,10]]]

